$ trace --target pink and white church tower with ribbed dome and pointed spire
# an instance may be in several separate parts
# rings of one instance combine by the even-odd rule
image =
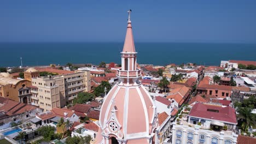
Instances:
[[[119,81],[104,98],[96,143],[154,143],[154,131],[158,127],[156,107],[139,81],[141,69],[136,65],[131,10],[128,13],[126,37],[121,52],[122,67],[117,70]]]

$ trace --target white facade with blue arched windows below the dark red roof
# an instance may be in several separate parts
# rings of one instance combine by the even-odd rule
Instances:
[[[237,143],[237,135],[235,133],[225,134],[223,131],[199,129],[173,123],[172,143],[235,144]]]

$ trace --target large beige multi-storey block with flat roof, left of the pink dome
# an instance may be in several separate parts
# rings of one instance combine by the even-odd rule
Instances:
[[[44,111],[72,103],[80,92],[89,92],[90,71],[32,78],[32,104]]]

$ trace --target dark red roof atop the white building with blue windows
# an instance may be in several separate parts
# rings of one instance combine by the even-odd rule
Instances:
[[[208,110],[216,110],[218,112],[212,112]],[[236,111],[230,106],[221,107],[196,103],[190,110],[189,116],[214,119],[223,122],[237,123]]]

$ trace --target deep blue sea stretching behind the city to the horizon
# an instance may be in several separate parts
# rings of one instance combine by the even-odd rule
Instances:
[[[256,61],[256,44],[136,43],[139,64],[196,63],[221,60]],[[123,43],[0,43],[0,66],[120,63]]]

